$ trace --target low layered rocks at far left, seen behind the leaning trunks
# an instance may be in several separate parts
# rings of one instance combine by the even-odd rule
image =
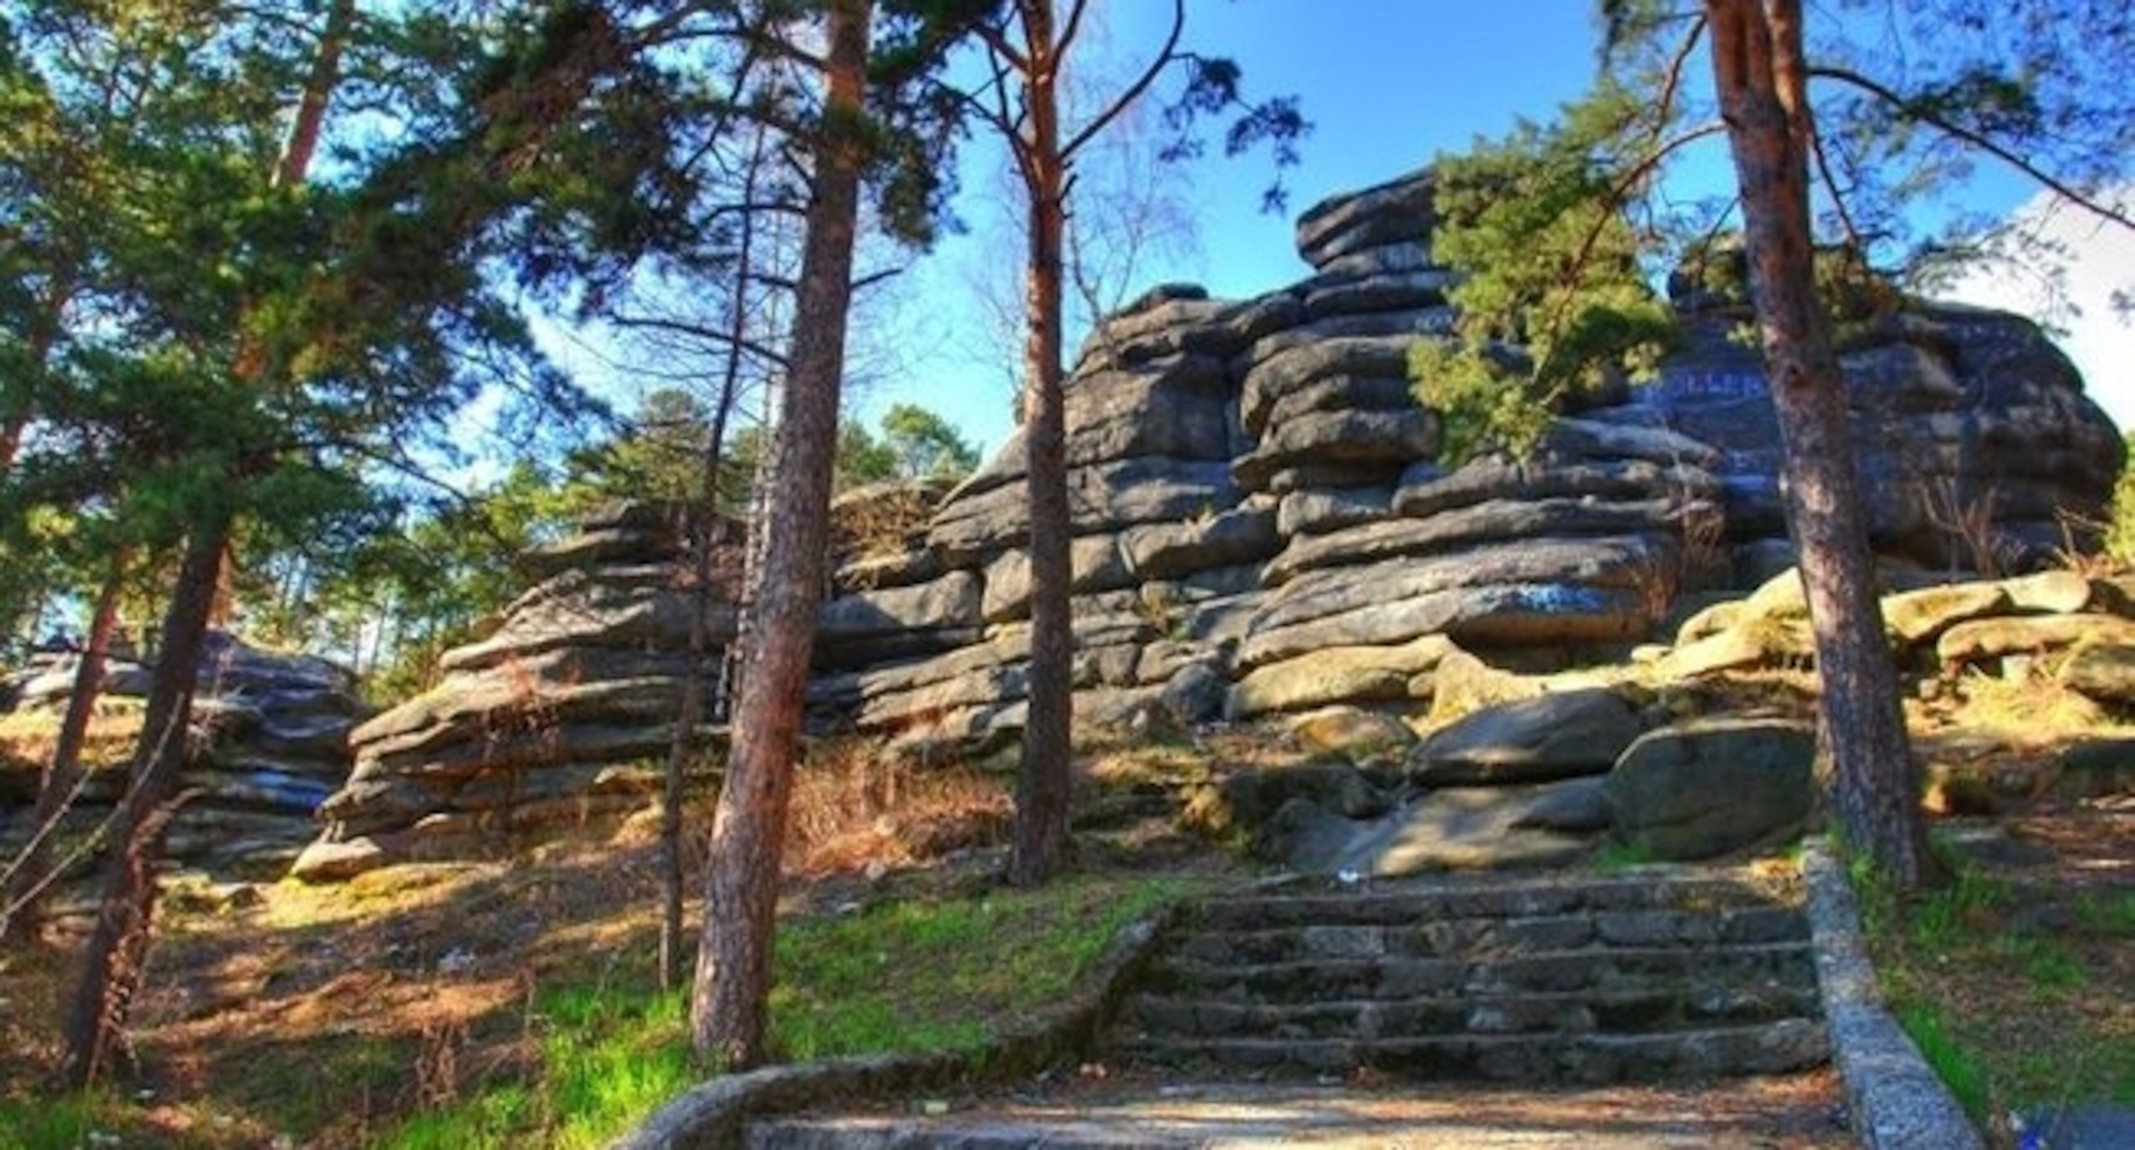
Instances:
[[[13,710],[66,710],[77,657],[41,655],[0,696]],[[102,698],[141,700],[149,668],[107,661]],[[192,753],[179,787],[190,792],[164,838],[169,858],[209,873],[280,873],[316,834],[320,802],[348,779],[348,732],[369,708],[354,676],[312,655],[265,651],[209,632],[192,704]],[[30,832],[34,779],[6,787],[21,800],[6,819],[0,856]],[[100,826],[126,787],[124,770],[92,772],[62,824],[73,838]]]

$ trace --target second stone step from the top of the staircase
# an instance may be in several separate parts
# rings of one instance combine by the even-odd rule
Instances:
[[[1580,947],[1655,947],[1791,943],[1808,939],[1796,907],[1719,911],[1631,909],[1539,917],[1409,920],[1401,924],[1294,924],[1198,930],[1172,954],[1208,964],[1309,962],[1322,958],[1452,958],[1567,952]]]

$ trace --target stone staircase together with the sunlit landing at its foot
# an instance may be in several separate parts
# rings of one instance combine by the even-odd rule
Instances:
[[[1110,1095],[766,1118],[743,1144],[1851,1146],[1828,1103],[1787,1097],[1796,1080],[1746,1077],[1830,1060],[1800,881],[1746,871],[1204,898],[1155,939],[1095,1060],[1125,1071]],[[1405,1088],[1420,1080],[1480,1086]]]

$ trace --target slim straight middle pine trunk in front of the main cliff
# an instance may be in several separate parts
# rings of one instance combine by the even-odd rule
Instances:
[[[1016,162],[1029,192],[1025,267],[1023,446],[1031,501],[1031,666],[1016,768],[1016,826],[1008,881],[1042,883],[1068,849],[1074,728],[1074,619],[1068,606],[1074,570],[1068,540],[1068,401],[1061,388],[1061,247],[1068,230],[1061,156],[1059,79],[1053,58],[1050,0],[1021,0],[1029,68],[1023,73],[1029,124]]]

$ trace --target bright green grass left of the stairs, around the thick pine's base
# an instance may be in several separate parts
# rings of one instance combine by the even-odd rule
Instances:
[[[790,1060],[974,1050],[1065,994],[1189,879],[1065,879],[779,924],[771,1043]],[[630,962],[651,969],[651,962]],[[608,977],[536,994],[540,1065],[401,1124],[399,1150],[602,1146],[702,1073],[681,994]]]

